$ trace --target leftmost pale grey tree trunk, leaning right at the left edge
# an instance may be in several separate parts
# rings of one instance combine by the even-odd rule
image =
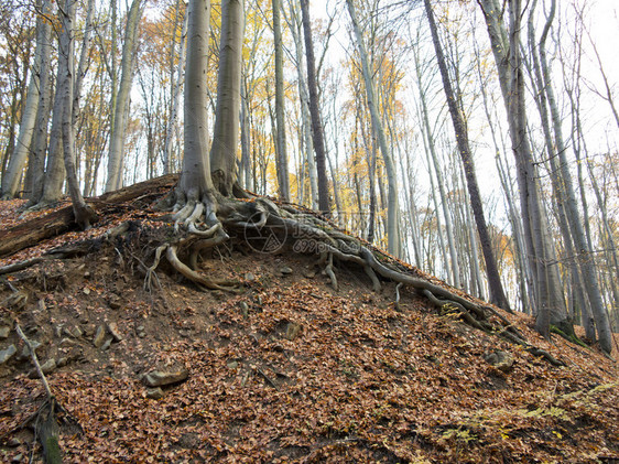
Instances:
[[[41,0],[37,0],[36,7],[41,9]],[[8,199],[19,195],[20,183],[23,176],[23,169],[29,158],[32,144],[32,136],[34,133],[34,123],[36,121],[36,111],[41,98],[40,77],[41,62],[43,60],[46,44],[50,43],[48,28],[45,28],[46,20],[42,17],[36,19],[36,48],[34,52],[34,63],[30,71],[30,80],[28,85],[28,94],[25,105],[22,109],[20,120],[20,132],[15,143],[15,148],[11,153],[7,170],[2,175],[2,185],[0,188],[0,197]],[[47,36],[45,36],[47,34]]]

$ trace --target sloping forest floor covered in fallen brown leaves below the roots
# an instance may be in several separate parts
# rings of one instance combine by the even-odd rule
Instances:
[[[22,205],[0,202],[0,241],[50,214],[21,215]],[[405,288],[397,306],[395,287],[372,292],[360,269],[338,266],[336,292],[315,257],[291,250],[214,249],[200,272],[236,279],[239,293],[203,292],[165,266],[161,288],[145,290],[140,261],[152,265],[149,237],[162,223],[132,207],[0,268],[126,220],[122,239],[0,276],[0,355],[17,348],[0,364],[1,462],[42,461],[32,424],[45,392],[15,319],[41,344],[65,410],[65,462],[619,462],[617,363],[542,339],[524,314],[504,316],[564,367]],[[151,389],[153,371],[177,381]]]

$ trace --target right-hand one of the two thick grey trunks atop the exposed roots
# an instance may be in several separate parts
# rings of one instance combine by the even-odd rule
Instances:
[[[232,194],[232,185],[237,181],[243,30],[243,0],[225,0],[221,4],[217,107],[210,148],[213,182],[224,195]]]

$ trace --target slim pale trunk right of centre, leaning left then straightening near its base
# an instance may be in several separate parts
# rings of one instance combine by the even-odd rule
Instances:
[[[370,117],[372,121],[373,130],[376,131],[382,159],[384,161],[384,170],[387,171],[387,184],[389,188],[388,193],[388,207],[387,207],[387,238],[388,246],[387,249],[390,253],[399,256],[401,252],[400,244],[400,209],[398,206],[398,179],[395,174],[395,168],[393,165],[393,160],[391,158],[391,151],[387,144],[387,138],[384,136],[384,129],[382,127],[382,121],[378,111],[378,102],[376,99],[374,83],[372,74],[370,72],[370,66],[368,63],[368,53],[366,52],[366,45],[363,43],[363,36],[361,34],[361,29],[359,26],[359,21],[357,20],[357,13],[355,11],[355,4],[352,0],[346,0],[348,6],[348,13],[350,14],[350,20],[352,22],[352,29],[355,32],[357,50],[359,51],[359,57],[361,60],[361,68],[363,73],[363,80],[366,83],[366,94],[368,98],[368,107],[370,110]]]

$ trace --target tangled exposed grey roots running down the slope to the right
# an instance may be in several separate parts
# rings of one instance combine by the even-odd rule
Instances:
[[[457,313],[463,322],[471,327],[523,346],[526,352],[541,356],[554,366],[563,365],[547,352],[530,345],[525,337],[493,307],[480,305],[446,287],[415,277],[398,266],[395,261],[384,257],[379,259],[378,257],[382,253],[370,244],[345,234],[315,212],[290,204],[279,206],[263,197],[256,197],[251,201],[215,198],[209,195],[199,202],[195,199],[177,202],[172,218],[176,235],[184,234],[184,238],[156,249],[154,263],[146,272],[145,285],[150,288],[153,280],[156,281],[154,270],[165,250],[165,258],[170,265],[199,288],[237,291],[236,282],[207,278],[197,272],[197,258],[200,251],[227,241],[229,236],[226,230],[238,235],[248,230],[259,234],[267,227],[282,242],[292,245],[293,249],[318,255],[318,266],[323,267],[336,291],[339,285],[334,261],[352,263],[363,269],[374,291],[380,291],[381,279],[395,282],[397,306],[400,303],[401,288],[412,288],[430,300],[439,311]],[[294,246],[301,241],[312,242],[314,246],[310,249],[295,248]],[[188,250],[187,263],[180,259],[180,249]]]

